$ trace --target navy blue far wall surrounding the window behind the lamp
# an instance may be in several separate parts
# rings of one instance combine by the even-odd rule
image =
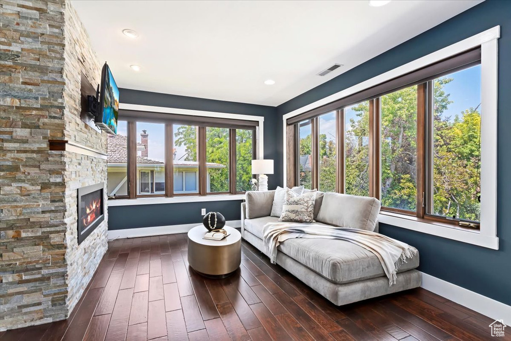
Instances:
[[[282,183],[282,147],[280,152],[275,144],[275,137],[282,131],[277,129],[278,117],[276,108],[271,106],[225,102],[204,98],[194,98],[167,94],[151,93],[132,89],[120,89],[122,103],[153,105],[169,108],[216,111],[254,115],[264,117],[264,158],[275,161],[275,174],[268,176],[268,186],[275,188]],[[282,127],[282,125],[281,125]],[[240,203],[238,200],[187,202],[168,204],[147,204],[140,206],[114,206],[108,208],[108,229],[122,230],[145,228],[149,226],[177,225],[198,223],[202,220],[200,209],[207,212],[221,212],[227,220],[240,219]]]

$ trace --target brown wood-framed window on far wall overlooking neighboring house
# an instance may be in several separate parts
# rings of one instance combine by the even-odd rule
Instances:
[[[135,117],[140,112],[125,111],[118,135],[108,137],[109,198],[236,194],[251,188],[258,122],[201,122],[179,115],[164,120],[156,113],[142,121]]]

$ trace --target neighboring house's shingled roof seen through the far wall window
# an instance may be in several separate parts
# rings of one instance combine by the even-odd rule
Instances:
[[[128,160],[128,152],[126,149],[127,138],[124,135],[108,135],[108,164],[126,164]],[[139,147],[142,146],[142,149]],[[140,142],[137,142],[137,150],[144,150],[144,145]],[[164,165],[161,161],[151,160],[148,157],[144,157],[141,155],[136,155],[136,163],[137,164],[145,164],[145,165]],[[182,161],[182,160],[174,160],[174,167],[182,167],[182,168],[197,168],[199,167],[199,163],[196,161]],[[216,164],[208,162],[206,163],[207,168],[224,168],[224,165]]]

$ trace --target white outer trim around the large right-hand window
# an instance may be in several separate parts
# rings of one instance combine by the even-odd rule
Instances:
[[[461,52],[481,47],[481,221],[480,230],[473,231],[448,227],[441,224],[417,220],[415,217],[402,217],[396,214],[380,213],[382,223],[400,228],[453,239],[465,243],[498,249],[497,237],[497,90],[498,90],[498,38],[500,26],[495,26],[467,39],[456,42],[422,58],[396,67],[379,76],[341,90],[331,96],[320,99],[283,116],[283,146],[286,160],[286,121],[300,113],[331,103],[338,99],[358,93],[361,90],[386,82],[415,71],[426,65],[452,57]],[[284,184],[287,184],[287,167],[283,167]]]

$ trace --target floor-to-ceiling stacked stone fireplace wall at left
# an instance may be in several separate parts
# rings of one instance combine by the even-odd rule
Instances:
[[[0,16],[3,331],[69,316],[107,251],[108,209],[106,133],[80,119],[82,74],[96,86],[102,63],[71,2]]]

